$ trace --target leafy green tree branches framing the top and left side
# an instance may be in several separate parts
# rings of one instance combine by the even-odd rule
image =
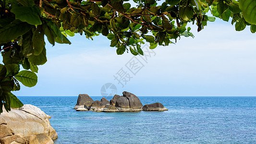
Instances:
[[[237,31],[250,25],[256,32],[256,0],[133,1],[136,7],[129,0],[0,0],[0,113],[2,106],[7,111],[23,106],[11,93],[20,90],[18,81],[37,84],[37,66],[47,61],[45,36],[54,46],[71,44],[66,37],[74,34],[92,40],[102,34],[118,55],[143,55],[145,41],[152,49],[168,46],[181,36],[194,37],[188,23],[199,32],[216,17],[232,18]]]

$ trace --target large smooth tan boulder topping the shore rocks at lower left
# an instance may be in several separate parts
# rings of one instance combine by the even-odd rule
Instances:
[[[50,118],[40,108],[32,105],[24,105],[22,108],[12,109],[9,112],[3,109],[3,113],[0,115],[0,120],[6,122],[7,127],[12,129],[14,133],[24,135],[46,133],[51,138],[56,139],[58,134],[50,126]]]

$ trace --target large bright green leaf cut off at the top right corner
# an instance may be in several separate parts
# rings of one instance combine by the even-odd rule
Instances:
[[[246,22],[256,24],[256,0],[239,0],[239,8]]]

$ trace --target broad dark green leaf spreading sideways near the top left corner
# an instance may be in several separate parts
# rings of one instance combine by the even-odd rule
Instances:
[[[22,22],[27,22],[32,25],[40,25],[42,21],[40,20],[41,12],[39,8],[34,5],[33,7],[15,7],[11,9],[11,12],[15,14],[15,18],[21,20]]]

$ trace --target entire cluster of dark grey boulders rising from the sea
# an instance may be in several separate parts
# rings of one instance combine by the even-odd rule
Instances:
[[[84,106],[83,106],[84,104]],[[86,105],[85,105],[86,104]],[[115,95],[110,101],[105,97],[101,100],[93,101],[88,95],[80,94],[75,105],[76,111],[95,111],[95,112],[133,112],[141,110],[168,110],[161,103],[154,103],[143,106],[140,99],[132,93],[123,92],[122,96]]]

